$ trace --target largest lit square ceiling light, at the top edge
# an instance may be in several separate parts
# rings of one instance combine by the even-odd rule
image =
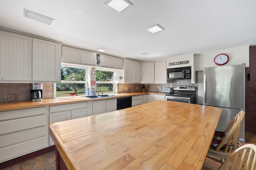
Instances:
[[[129,0],[107,0],[104,5],[111,8],[112,10],[116,11],[120,14],[122,10],[127,8],[129,5],[133,5],[132,2]]]

